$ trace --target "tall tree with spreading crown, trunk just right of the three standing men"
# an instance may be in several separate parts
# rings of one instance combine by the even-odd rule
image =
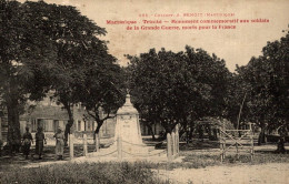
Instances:
[[[67,141],[73,125],[72,108],[79,102],[77,88],[86,80],[88,68],[83,65],[91,65],[94,59],[107,57],[106,41],[98,38],[104,35],[106,30],[81,16],[74,7],[47,4],[43,1],[24,2],[24,7],[29,18],[41,19],[38,29],[53,45],[56,58],[50,61],[46,79],[50,82],[54,99],[68,112]]]

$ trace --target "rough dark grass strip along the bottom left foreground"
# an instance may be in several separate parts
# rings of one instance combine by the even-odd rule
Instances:
[[[52,184],[52,183],[165,183],[143,164],[81,163],[13,168],[0,174],[0,183]]]

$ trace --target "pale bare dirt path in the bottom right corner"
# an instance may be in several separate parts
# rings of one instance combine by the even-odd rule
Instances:
[[[289,164],[208,166],[206,168],[177,168],[159,171],[158,175],[170,183],[193,184],[288,184]]]

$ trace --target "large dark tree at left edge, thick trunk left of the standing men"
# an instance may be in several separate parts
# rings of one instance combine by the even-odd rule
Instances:
[[[8,112],[8,144],[18,150],[20,112],[28,99],[41,100],[48,91],[44,69],[54,54],[37,28],[41,21],[29,18],[23,4],[1,0],[0,11],[0,94]]]

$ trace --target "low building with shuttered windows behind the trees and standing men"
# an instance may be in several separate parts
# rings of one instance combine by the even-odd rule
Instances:
[[[31,105],[33,108],[31,108]],[[30,108],[29,108],[30,106]],[[37,132],[39,126],[43,127],[47,139],[53,139],[57,127],[60,126],[64,130],[68,123],[67,110],[57,104],[56,101],[48,94],[40,102],[29,102],[29,106],[26,109],[26,113],[20,115],[20,132],[24,133],[26,126],[30,127],[32,135]],[[93,131],[97,127],[97,122],[92,119],[83,120],[83,114],[89,116],[84,106],[77,104],[72,110],[73,114],[73,130],[76,137],[82,137],[86,133],[89,139],[93,137]],[[100,114],[103,115],[103,114]],[[100,137],[114,136],[116,119],[108,119],[100,129]],[[142,135],[150,135],[148,127],[140,122],[140,129]],[[158,135],[163,129],[160,124],[153,125],[152,130]],[[8,119],[4,110],[0,111],[0,139],[6,142],[8,132]]]

